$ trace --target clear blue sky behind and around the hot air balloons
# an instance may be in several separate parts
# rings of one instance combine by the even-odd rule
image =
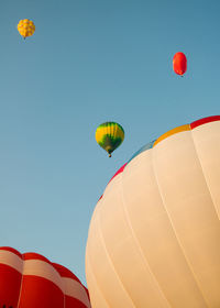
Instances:
[[[0,245],[34,251],[82,283],[94,208],[134,152],[220,114],[219,0],[0,3]],[[34,21],[25,41],[16,24]],[[188,58],[184,78],[172,67]],[[96,128],[119,122],[112,158]]]

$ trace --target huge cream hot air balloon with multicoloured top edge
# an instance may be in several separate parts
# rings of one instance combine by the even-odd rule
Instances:
[[[146,144],[91,218],[92,308],[220,307],[220,116]]]

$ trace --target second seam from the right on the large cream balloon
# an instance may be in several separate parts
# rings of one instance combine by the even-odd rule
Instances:
[[[191,131],[188,131],[188,132],[191,133]],[[153,151],[154,151],[154,147],[153,147]],[[204,295],[204,293],[202,293],[202,290],[201,290],[201,288],[200,288],[200,285],[199,285],[199,282],[198,282],[198,279],[197,279],[197,276],[196,276],[196,274],[194,273],[194,270],[193,270],[193,267],[191,267],[191,264],[190,264],[190,262],[189,262],[189,260],[188,260],[188,257],[187,257],[187,255],[186,255],[186,253],[185,253],[184,246],[182,245],[182,242],[180,242],[180,240],[179,240],[179,238],[178,238],[178,235],[177,235],[177,231],[176,231],[176,229],[175,229],[175,227],[174,227],[172,217],[170,217],[170,215],[169,215],[169,212],[168,212],[168,209],[166,208],[165,200],[164,200],[164,197],[163,197],[163,193],[162,193],[162,189],[161,189],[161,186],[160,186],[160,183],[158,183],[158,178],[157,178],[157,175],[156,175],[156,169],[155,169],[155,166],[154,166],[154,155],[153,155],[153,154],[152,154],[152,167],[153,167],[155,180],[156,180],[156,184],[157,184],[158,193],[160,193],[160,196],[161,196],[161,198],[162,198],[162,204],[163,204],[164,209],[165,209],[165,211],[166,211],[166,213],[167,213],[167,217],[168,217],[169,223],[170,223],[170,226],[172,226],[172,229],[173,229],[173,231],[174,231],[174,234],[175,234],[175,237],[176,237],[177,243],[178,243],[178,245],[179,245],[179,248],[180,248],[180,250],[182,250],[182,252],[183,252],[183,255],[184,255],[184,257],[185,257],[185,260],[186,260],[186,264],[187,264],[187,266],[188,266],[188,268],[189,268],[191,275],[193,275],[194,278],[195,278],[195,283],[196,283],[196,285],[197,285],[197,287],[198,287],[198,290],[199,290],[200,294],[201,294],[201,297],[202,297],[202,299],[204,299],[204,302],[205,302],[205,305],[206,305],[207,308],[208,308],[209,305],[208,305],[208,302],[207,302],[206,299],[205,299],[205,295]]]

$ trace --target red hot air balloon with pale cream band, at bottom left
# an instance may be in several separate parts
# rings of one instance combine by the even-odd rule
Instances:
[[[90,308],[87,289],[66,267],[37,253],[0,248],[0,307]]]

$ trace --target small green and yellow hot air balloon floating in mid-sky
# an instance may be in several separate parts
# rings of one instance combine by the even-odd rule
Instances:
[[[124,130],[116,122],[106,122],[96,130],[97,143],[109,153],[111,153],[123,142]]]

